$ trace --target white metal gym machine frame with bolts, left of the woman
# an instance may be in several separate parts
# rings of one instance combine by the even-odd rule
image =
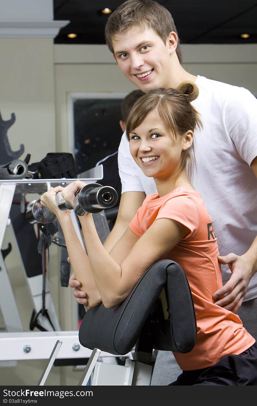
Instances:
[[[13,201],[13,196],[16,193],[22,193],[25,202],[25,194],[27,193],[39,193],[47,191],[51,186],[61,184],[66,186],[67,184],[75,181],[82,180],[86,183],[95,183],[97,180],[103,178],[103,166],[99,165],[89,171],[80,174],[76,179],[17,179],[17,180],[0,180],[0,247],[4,238],[5,229],[10,225],[9,212]],[[21,202],[21,209],[24,202]],[[25,205],[23,207],[25,212]],[[73,224],[76,228],[80,242],[84,248],[84,243],[81,238],[80,229],[76,220],[74,211],[71,212]],[[14,235],[15,237],[15,235]],[[22,262],[22,261],[21,261]],[[61,331],[58,318],[55,313],[54,304],[50,295],[49,287],[46,284],[45,291],[45,304],[48,309],[49,315],[53,324],[58,326],[58,331],[51,331],[52,326],[48,320],[41,318],[40,322],[47,323],[45,328],[48,331],[45,332],[24,332],[22,322],[19,317],[19,312],[15,302],[15,297],[11,288],[9,277],[6,271],[2,254],[0,256],[0,308],[4,319],[6,331],[0,332],[0,367],[4,365],[4,361],[20,361],[20,360],[36,360],[36,359],[48,359],[48,364],[43,371],[43,374],[39,380],[39,385],[43,385],[55,359],[68,359],[68,358],[89,358],[91,359],[90,365],[85,368],[85,373],[88,380],[89,367],[95,367],[95,362],[98,357],[115,357],[113,354],[97,350],[97,356],[94,355],[92,359],[92,350],[84,348],[80,345],[78,339],[78,331]],[[21,267],[24,270],[23,263]],[[25,270],[24,270],[25,272]],[[41,294],[42,294],[42,277],[40,275],[26,278],[28,281],[28,287],[34,302],[35,311],[41,309]],[[37,280],[35,280],[37,279]],[[47,281],[46,281],[47,282]],[[11,316],[11,317],[10,317]],[[49,331],[50,330],[50,331]],[[128,360],[133,359],[132,353],[125,354]],[[92,364],[92,361],[95,361]],[[102,364],[102,363],[101,363]],[[92,367],[93,365],[93,367]],[[122,365],[111,365],[116,367],[122,367]],[[119,376],[120,370],[119,369]],[[92,372],[92,371],[91,371]],[[120,376],[121,377],[121,376]],[[129,376],[128,376],[129,377]],[[131,380],[126,380],[130,382]],[[79,384],[86,384],[85,378],[81,378]],[[123,384],[124,380],[123,380]],[[127,383],[131,384],[131,383]]]

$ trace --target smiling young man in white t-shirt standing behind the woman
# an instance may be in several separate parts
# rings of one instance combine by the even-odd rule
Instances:
[[[176,88],[186,80],[199,88],[199,97],[192,104],[201,115],[203,130],[194,134],[197,172],[193,185],[212,217],[214,229],[209,233],[215,230],[222,255],[224,286],[213,300],[238,312],[257,339],[257,100],[246,89],[186,72],[180,65],[171,14],[156,2],[128,0],[121,4],[110,15],[105,34],[121,71],[143,92]],[[117,221],[105,242],[107,250],[119,240],[145,195],[156,192],[153,179],[145,177],[134,163],[125,134],[118,162],[122,196]],[[78,302],[86,304],[84,294],[76,289],[78,281],[71,277],[69,284],[75,287]]]

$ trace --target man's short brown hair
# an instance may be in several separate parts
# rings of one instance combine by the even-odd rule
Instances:
[[[112,40],[115,34],[121,34],[133,26],[152,28],[166,44],[171,31],[177,34],[171,13],[152,0],[127,0],[108,18],[105,26],[105,40],[109,50],[114,53]],[[182,63],[179,39],[176,54]]]

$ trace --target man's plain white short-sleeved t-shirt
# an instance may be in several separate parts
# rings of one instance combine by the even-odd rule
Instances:
[[[220,255],[244,254],[257,235],[257,179],[251,162],[257,156],[257,99],[246,89],[197,76],[199,96],[192,105],[203,130],[194,132],[196,172],[193,186],[212,217]],[[122,193],[155,193],[130,155],[123,134],[118,154]],[[231,276],[222,266],[225,284]],[[244,300],[257,297],[257,274]]]

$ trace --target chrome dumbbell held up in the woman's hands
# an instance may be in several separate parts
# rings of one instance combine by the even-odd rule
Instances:
[[[98,213],[113,207],[118,201],[118,194],[111,186],[102,186],[98,183],[85,185],[78,190],[74,199],[74,211],[78,216],[87,213]],[[60,210],[72,209],[65,201],[61,192],[56,194],[56,202]],[[56,219],[55,214],[42,206],[40,199],[35,201],[26,212],[26,220],[31,223],[49,223]]]

